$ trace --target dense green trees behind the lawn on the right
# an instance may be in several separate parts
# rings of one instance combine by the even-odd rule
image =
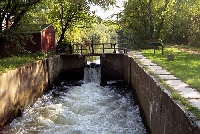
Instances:
[[[199,0],[128,0],[120,15],[123,34],[136,48],[159,40],[200,46],[199,4]]]

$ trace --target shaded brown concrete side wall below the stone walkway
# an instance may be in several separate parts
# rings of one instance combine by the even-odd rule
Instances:
[[[127,55],[124,79],[130,84],[152,134],[199,134],[200,128],[187,116],[168,90],[159,85],[137,61]],[[130,62],[130,64],[129,64]],[[130,68],[130,70],[129,70]]]

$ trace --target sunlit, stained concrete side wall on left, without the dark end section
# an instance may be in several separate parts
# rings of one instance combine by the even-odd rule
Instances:
[[[37,61],[0,75],[0,129],[58,80],[60,56]]]

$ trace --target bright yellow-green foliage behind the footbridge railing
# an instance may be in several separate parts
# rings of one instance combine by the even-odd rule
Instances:
[[[94,23],[91,23],[89,26],[85,23],[79,23],[75,25],[72,29],[67,31],[67,35],[65,39],[71,44],[79,44],[79,46],[75,45],[75,48],[80,48],[82,45],[83,49],[89,49],[89,45],[93,42],[95,52],[102,52],[102,45],[98,45],[100,43],[105,43],[104,47],[110,48],[110,44],[108,43],[116,43],[119,26],[111,20],[108,21],[100,21],[96,19]],[[98,46],[97,46],[98,45]],[[90,52],[88,50],[87,52]],[[113,50],[111,50],[113,52]],[[111,52],[109,51],[109,52]],[[111,53],[112,53],[111,52]]]

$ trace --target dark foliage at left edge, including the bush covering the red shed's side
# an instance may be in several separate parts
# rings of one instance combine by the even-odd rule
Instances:
[[[3,0],[0,2],[0,57],[10,55],[22,48],[29,35],[18,28],[20,21],[41,0]],[[19,43],[20,42],[20,43]],[[21,51],[20,51],[21,52]]]

